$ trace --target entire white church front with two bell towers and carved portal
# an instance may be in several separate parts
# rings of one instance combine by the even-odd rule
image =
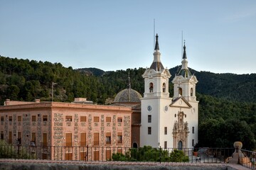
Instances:
[[[173,98],[169,94],[171,74],[160,60],[158,35],[153,55],[151,67],[142,75],[140,146],[192,148],[198,142],[198,80],[188,69],[186,46],[184,44],[181,70],[172,81]]]

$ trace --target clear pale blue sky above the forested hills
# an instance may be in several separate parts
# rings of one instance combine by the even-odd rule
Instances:
[[[161,62],[256,73],[255,0],[0,0],[0,55],[105,71],[150,67],[154,18]]]

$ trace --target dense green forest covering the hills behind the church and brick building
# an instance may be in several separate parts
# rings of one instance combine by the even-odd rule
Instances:
[[[180,66],[170,69],[171,80]],[[144,68],[105,72],[101,69],[65,68],[60,63],[18,60],[0,56],[0,103],[6,98],[18,101],[71,102],[84,97],[94,103],[109,104],[114,96],[127,88],[131,77],[132,89],[144,92]],[[199,101],[200,147],[232,147],[241,141],[243,148],[256,149],[256,74],[214,74],[197,72]],[[170,94],[173,86],[169,84]]]

